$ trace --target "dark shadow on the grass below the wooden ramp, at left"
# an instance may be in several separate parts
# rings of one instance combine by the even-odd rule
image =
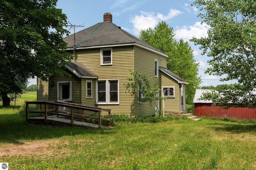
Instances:
[[[111,129],[92,129],[89,127],[68,127],[52,124],[33,124],[26,122],[20,114],[0,115],[0,143],[22,144],[23,140],[53,139],[63,136],[102,133],[111,135]]]

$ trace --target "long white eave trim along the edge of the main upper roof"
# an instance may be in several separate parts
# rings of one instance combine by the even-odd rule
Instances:
[[[154,49],[151,49],[149,47],[146,47],[144,45],[140,45],[138,43],[124,43],[124,44],[112,44],[112,45],[98,45],[98,46],[91,46],[91,47],[76,47],[76,50],[78,49],[94,49],[94,48],[107,48],[107,47],[122,47],[122,46],[129,46],[129,45],[136,45],[138,47],[141,47],[143,49],[147,49],[149,51],[152,51],[154,53],[157,53],[159,55],[162,55],[164,57],[168,57],[167,54],[165,53],[161,53],[160,51],[157,51],[157,50],[154,50]],[[74,50],[74,48],[68,48],[67,50]]]

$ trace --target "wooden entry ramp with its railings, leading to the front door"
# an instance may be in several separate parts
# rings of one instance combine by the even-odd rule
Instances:
[[[39,110],[29,110],[29,104],[38,104],[40,105]],[[60,110],[60,107],[68,107],[69,111]],[[49,109],[50,108],[50,109]],[[82,114],[74,113],[74,109],[81,110]],[[84,111],[92,111],[98,113],[98,116],[85,115]],[[108,112],[108,118],[101,117],[102,111]],[[40,113],[40,117],[29,117],[29,113]],[[68,119],[67,119],[68,118]],[[74,118],[76,120],[74,120]],[[80,119],[81,121],[77,121]],[[60,123],[63,125],[73,126],[86,126],[92,128],[101,128],[106,127],[102,126],[102,120],[108,121],[108,126],[111,125],[111,110],[104,109],[100,107],[85,106],[80,104],[73,104],[68,102],[26,102],[26,121],[41,121],[41,122],[50,122],[50,123]],[[84,122],[87,121],[87,122]],[[88,123],[92,122],[92,123]],[[94,123],[93,123],[94,122]],[[97,124],[95,124],[97,123]]]

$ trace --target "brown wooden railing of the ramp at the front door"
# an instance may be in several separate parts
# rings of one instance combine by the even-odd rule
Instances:
[[[29,104],[38,104],[40,105],[40,110],[29,110]],[[44,107],[44,109],[43,109]],[[70,112],[59,110],[59,107],[69,107]],[[79,109],[82,111],[82,114],[74,113],[74,109]],[[98,113],[98,117],[85,115],[84,111],[92,111]],[[102,111],[108,112],[108,118],[101,117]],[[47,123],[48,114],[70,117],[71,126],[74,126],[74,118],[81,119],[85,121],[97,122],[98,127],[101,127],[102,120],[108,121],[108,125],[111,125],[111,109],[104,109],[100,107],[93,106],[85,106],[81,104],[74,104],[68,102],[42,102],[42,101],[34,101],[34,102],[26,102],[26,121],[29,121],[29,113],[41,113],[41,117],[44,114],[44,121]]]

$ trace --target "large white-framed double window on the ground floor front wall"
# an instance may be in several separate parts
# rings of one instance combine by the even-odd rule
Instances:
[[[98,104],[119,104],[119,80],[99,80],[96,89]]]

